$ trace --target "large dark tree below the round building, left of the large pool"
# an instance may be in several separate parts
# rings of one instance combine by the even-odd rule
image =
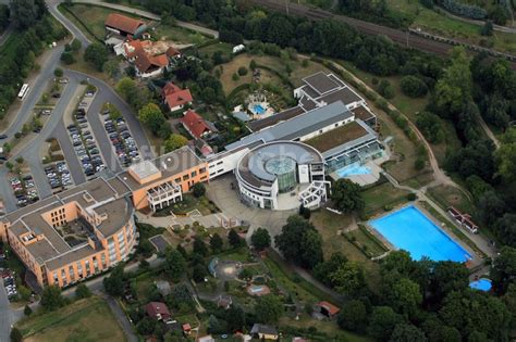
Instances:
[[[312,268],[322,262],[322,239],[312,224],[292,215],[283,226],[274,243],[283,256],[306,268]]]

